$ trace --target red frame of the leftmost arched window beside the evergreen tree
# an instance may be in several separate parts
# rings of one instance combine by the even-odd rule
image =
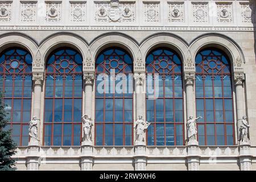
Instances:
[[[10,51],[12,53],[10,53]],[[22,53],[23,52],[23,53]],[[14,48],[8,48],[5,49],[1,54],[0,54],[0,61],[2,62],[0,64],[0,76],[3,78],[3,81],[1,81],[1,88],[3,90],[6,90],[8,87],[11,87],[11,96],[6,96],[5,93],[3,93],[3,99],[4,100],[11,100],[11,110],[10,110],[10,122],[7,123],[7,127],[10,126],[11,129],[14,128],[14,126],[19,126],[19,135],[14,135],[14,132],[12,133],[13,137],[19,137],[19,143],[17,143],[18,146],[27,146],[28,144],[28,122],[29,121],[24,121],[24,112],[29,113],[27,115],[27,119],[31,119],[31,101],[32,101],[32,56],[31,54],[26,51],[23,48],[19,47],[14,47]],[[16,61],[18,65],[16,67],[13,67],[11,63],[13,61]],[[6,85],[6,77],[11,77],[12,79],[12,84],[11,86]],[[22,78],[22,85],[15,85],[15,78],[20,77]],[[26,77],[29,78],[29,85],[26,83]],[[19,93],[21,92],[21,96],[17,97],[15,94],[15,88],[20,88]],[[30,89],[31,92],[29,96],[24,96],[24,90]],[[9,94],[9,93],[8,93]],[[21,100],[21,105],[20,105],[20,110],[14,110],[14,102]],[[30,106],[28,108],[23,107],[23,104],[25,101],[30,100]],[[16,105],[19,106],[19,105]],[[24,105],[25,106],[25,105]],[[7,113],[8,113],[7,109]],[[20,121],[15,122],[13,114],[15,111],[20,111]],[[9,125],[9,126],[8,126]],[[26,130],[23,130],[26,129]],[[26,139],[27,138],[27,139]],[[23,141],[24,140],[24,141]],[[27,142],[24,144],[24,142]]]

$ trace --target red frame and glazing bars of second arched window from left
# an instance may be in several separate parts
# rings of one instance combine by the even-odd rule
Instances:
[[[59,54],[58,52],[63,51],[63,53]],[[69,53],[68,51],[73,51],[75,53]],[[74,144],[74,138],[75,137],[79,137],[80,138],[80,142],[79,145],[81,143],[81,138],[82,138],[82,121],[81,121],[81,117],[82,117],[82,88],[83,88],[83,80],[82,80],[82,56],[80,55],[79,52],[77,52],[75,49],[70,48],[70,47],[61,47],[56,49],[55,51],[53,51],[51,53],[51,55],[48,56],[47,62],[49,61],[49,59],[51,59],[51,57],[54,56],[54,61],[51,64],[46,64],[46,81],[45,81],[45,91],[44,91],[44,127],[43,127],[43,144],[47,145],[47,146],[55,146],[55,144],[53,143],[53,139],[55,137],[61,137],[61,146],[64,146],[64,137],[71,137],[71,146],[75,145]],[[78,57],[78,58],[77,58]],[[67,61],[68,62],[68,66],[67,67],[63,67],[63,65],[61,65],[62,62]],[[78,63],[80,62],[80,63]],[[77,70],[79,71],[77,71]],[[53,77],[53,85],[51,85],[51,87],[53,88],[52,96],[46,96],[47,92],[47,77]],[[56,78],[57,77],[61,77],[62,78],[62,82],[63,84],[57,85],[59,87],[61,87],[62,92],[61,92],[61,97],[55,96],[56,94]],[[65,81],[67,80],[67,77],[72,77],[72,96],[65,96]],[[76,85],[75,85],[75,80],[76,77],[81,77],[81,86],[79,85],[79,87],[81,87],[81,94],[80,96],[75,96],[75,91],[76,91]],[[46,111],[47,111],[47,105],[46,105],[46,101],[47,100],[52,100],[52,119],[51,122],[47,122],[46,121]],[[55,102],[62,100],[62,109],[61,109],[61,122],[56,122],[55,121],[55,112],[57,110],[55,110]],[[71,111],[72,113],[72,119],[71,121],[64,121],[64,113],[65,113],[65,101],[67,100],[72,100],[72,109],[68,110]],[[77,103],[75,103],[75,100],[81,100],[81,117],[80,117],[80,121],[74,121],[75,118],[75,110],[74,107]],[[46,134],[46,127],[51,125],[51,134],[47,135]],[[61,125],[61,135],[54,135],[53,131],[54,131],[54,125]],[[71,125],[71,134],[65,134],[64,133],[64,127]],[[80,128],[80,134],[75,134],[75,126],[79,126]],[[51,144],[46,144],[46,137],[51,137]]]

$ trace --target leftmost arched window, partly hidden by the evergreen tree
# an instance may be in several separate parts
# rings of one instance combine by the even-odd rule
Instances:
[[[22,48],[10,48],[0,55],[0,88],[4,91],[5,109],[18,146],[28,145],[28,122],[31,119],[32,57]]]

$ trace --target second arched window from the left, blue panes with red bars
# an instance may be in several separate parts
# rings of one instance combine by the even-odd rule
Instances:
[[[82,57],[72,48],[60,48],[46,64],[44,145],[80,145],[81,117]]]

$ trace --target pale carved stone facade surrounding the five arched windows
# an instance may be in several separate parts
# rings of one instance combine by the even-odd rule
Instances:
[[[19,46],[33,59],[32,114],[44,121],[47,56],[63,45],[84,60],[83,114],[94,121],[94,63],[111,46],[125,48],[134,72],[145,73],[147,53],[158,46],[174,49],[183,61],[184,117],[195,115],[195,56],[206,47],[222,49],[232,63],[234,118],[247,115],[250,144],[234,146],[20,146],[19,170],[255,170],[256,62],[255,2],[233,1],[2,1],[0,52]],[[144,84],[137,79],[135,90]],[[144,97],[135,92],[134,118],[145,115]],[[39,123],[43,138],[43,122]],[[94,130],[92,130],[94,136]],[[186,134],[185,134],[186,135]],[[94,137],[92,137],[94,139]],[[94,143],[94,140],[93,142]],[[135,141],[134,141],[135,143]],[[93,160],[92,160],[93,159]],[[63,165],[65,164],[65,165]]]

